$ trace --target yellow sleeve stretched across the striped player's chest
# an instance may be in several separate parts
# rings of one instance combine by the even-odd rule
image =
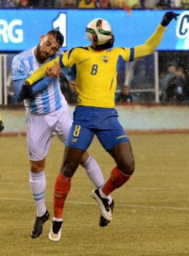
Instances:
[[[40,68],[38,68],[34,74],[32,74],[29,78],[26,79],[26,81],[29,82],[30,85],[33,85],[34,83],[36,83],[36,81],[44,78],[45,73],[46,73],[46,69],[48,67],[53,67],[55,65],[55,62],[59,63],[59,60],[62,58],[62,55],[51,60],[50,62],[47,62],[46,64],[44,64],[43,66],[41,66]]]

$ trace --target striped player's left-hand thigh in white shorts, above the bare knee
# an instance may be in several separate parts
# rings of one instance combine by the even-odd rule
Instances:
[[[45,115],[26,114],[26,141],[30,160],[39,161],[46,157],[52,134]]]

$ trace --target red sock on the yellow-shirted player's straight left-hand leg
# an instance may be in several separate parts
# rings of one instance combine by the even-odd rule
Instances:
[[[67,194],[70,191],[71,178],[64,177],[61,172],[59,172],[54,188],[54,217],[61,219],[62,211],[64,208],[64,203]]]

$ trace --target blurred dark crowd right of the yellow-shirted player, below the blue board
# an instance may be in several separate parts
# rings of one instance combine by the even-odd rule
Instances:
[[[189,104],[189,68],[187,55],[175,56],[177,57],[175,59],[178,61],[175,59],[167,60],[167,58],[164,61],[164,53],[160,53],[159,55],[160,102]],[[118,84],[119,93],[116,95],[117,103],[153,103],[155,101],[154,72],[152,71],[154,70],[154,66],[151,65],[150,58],[151,56],[146,57],[135,65],[133,77],[128,84],[125,84],[125,79],[122,83]],[[145,60],[148,62],[147,65],[144,65]]]

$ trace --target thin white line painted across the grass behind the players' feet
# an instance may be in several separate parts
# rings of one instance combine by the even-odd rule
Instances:
[[[0,198],[0,201],[26,201],[26,202],[34,202],[33,199],[24,199],[24,198]],[[53,202],[53,200],[45,200],[46,202]],[[70,204],[96,204],[95,202],[80,202],[80,201],[66,201],[66,203]],[[125,208],[141,208],[141,209],[152,209],[152,210],[175,210],[175,211],[189,211],[187,207],[154,207],[154,206],[140,206],[135,204],[116,204],[116,207],[125,207]]]

